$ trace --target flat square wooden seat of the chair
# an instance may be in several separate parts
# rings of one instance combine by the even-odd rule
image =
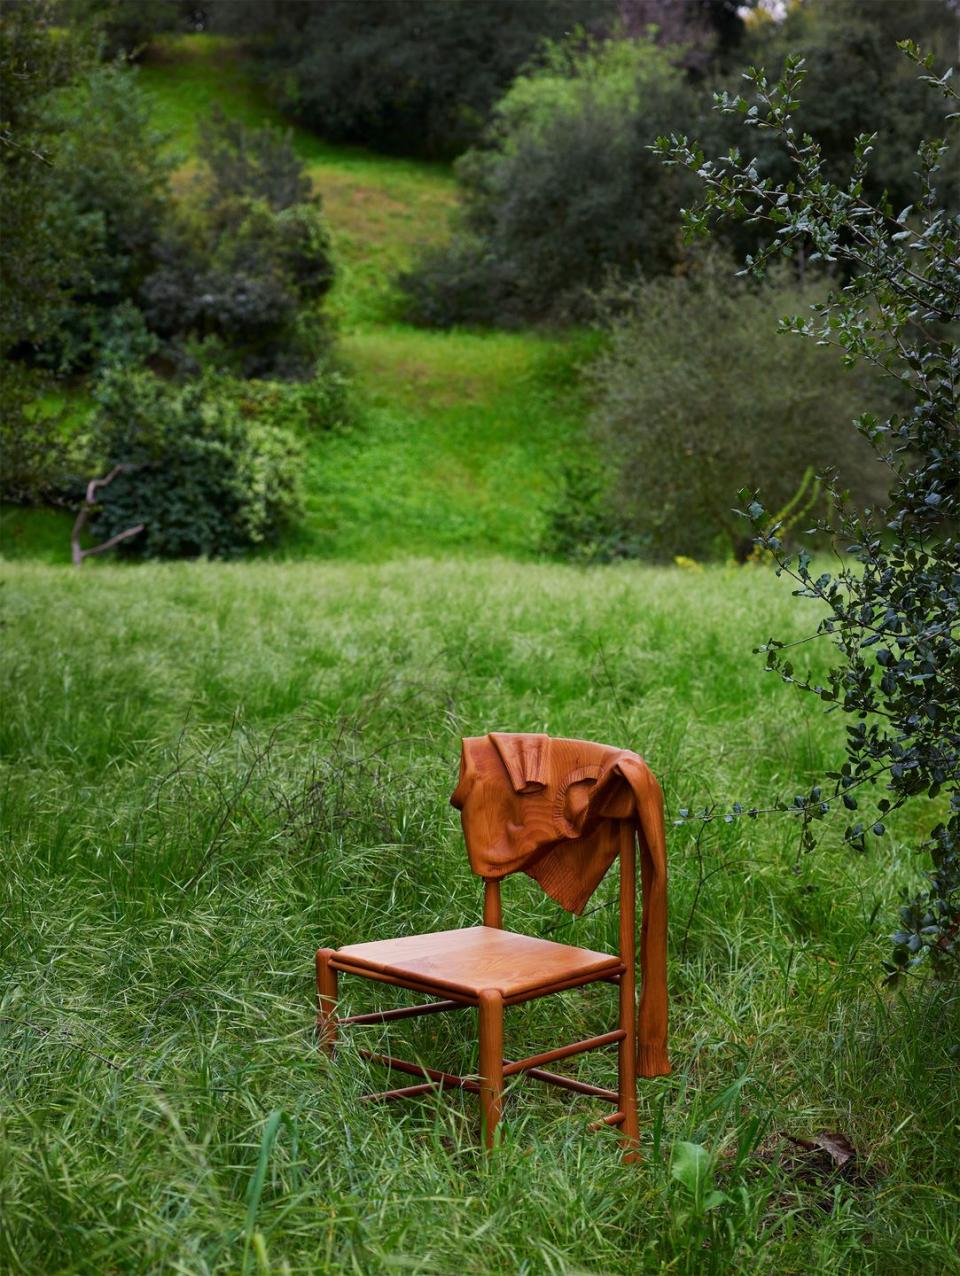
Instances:
[[[555,944],[495,926],[349,944],[337,951],[333,962],[340,968],[377,971],[469,997],[495,989],[504,998],[566,980],[604,979],[623,970],[619,957],[610,953]]]

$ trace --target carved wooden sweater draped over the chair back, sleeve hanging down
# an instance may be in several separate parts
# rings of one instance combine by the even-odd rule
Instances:
[[[589,740],[494,731],[463,740],[451,803],[474,873],[521,870],[576,914],[617,859],[618,823],[634,824],[642,884],[637,1071],[669,1073],[664,800],[646,762]]]

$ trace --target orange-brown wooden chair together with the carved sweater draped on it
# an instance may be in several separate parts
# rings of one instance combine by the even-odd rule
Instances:
[[[451,1087],[479,1092],[483,1138],[491,1150],[498,1142],[498,1127],[503,1116],[504,1077],[522,1073],[548,1085],[615,1102],[617,1111],[594,1122],[591,1128],[619,1127],[627,1159],[633,1159],[640,1134],[637,1073],[660,1076],[669,1072],[666,861],[660,787],[641,758],[609,745],[509,735],[479,738],[479,741],[465,740],[463,745],[460,783],[452,800],[465,812],[471,866],[484,878],[484,924],[374,939],[347,944],[336,951],[319,949],[319,1044],[327,1053],[332,1053],[336,1044],[337,972],[443,999],[393,1011],[354,1014],[341,1020],[341,1023],[386,1023],[417,1014],[476,1007],[480,1044],[477,1078],[457,1077],[392,1055],[361,1050],[360,1054],[371,1062],[425,1078],[412,1086],[364,1097],[391,1100]],[[477,771],[485,771],[484,785],[479,789]],[[523,798],[535,800],[525,805]],[[466,817],[467,805],[471,806],[470,820]],[[517,820],[522,823],[523,813],[527,815],[527,828],[518,833]],[[497,841],[498,822],[503,826],[506,842],[503,838]],[[488,838],[485,849],[477,850],[476,843],[471,846],[469,823],[472,824],[475,836],[480,828],[483,837]],[[557,837],[560,843],[553,851],[549,836]],[[534,861],[525,860],[518,854],[522,845],[527,845]],[[637,845],[643,886],[640,935],[643,991],[640,1012],[636,990]],[[540,861],[550,854],[553,864],[543,868]],[[503,929],[500,878],[507,873],[521,869],[527,872],[548,893],[555,898],[563,896],[560,902],[577,911],[582,907],[585,892],[589,893],[596,886],[609,863],[617,857],[620,869],[618,953],[558,944]],[[618,985],[619,1016],[615,1028],[583,1041],[543,1050],[526,1059],[504,1059],[507,1007],[597,981]],[[586,1050],[614,1045],[618,1055],[617,1091],[548,1072],[541,1067]]]

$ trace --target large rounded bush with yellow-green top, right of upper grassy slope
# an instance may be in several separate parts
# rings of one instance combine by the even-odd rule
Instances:
[[[457,162],[463,214],[401,279],[421,323],[567,319],[611,272],[669,269],[684,180],[649,145],[689,91],[647,41],[553,46]]]

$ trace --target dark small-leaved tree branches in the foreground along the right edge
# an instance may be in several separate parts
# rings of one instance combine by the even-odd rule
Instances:
[[[922,60],[910,41],[901,47],[923,66],[928,89],[959,101],[950,73],[933,74],[932,56]],[[857,847],[871,832],[882,835],[887,813],[913,798],[928,798],[940,812],[920,847],[932,861],[927,887],[903,907],[894,937],[895,977],[924,957],[956,968],[960,956],[960,235],[937,185],[955,171],[955,153],[947,140],[920,143],[904,208],[869,195],[873,134],[855,139],[846,180],[831,179],[821,145],[795,124],[803,75],[803,60],[789,57],[776,83],[751,73],[756,101],[719,97],[720,110],[776,140],[789,181],[761,176],[737,151],[707,160],[684,137],[664,137],[657,149],[703,184],[703,199],[684,214],[691,234],[725,218],[766,228],[767,245],[747,262],[753,276],[800,248],[843,267],[848,282],[785,328],[839,347],[848,364],[874,366],[909,399],[901,412],[857,421],[890,472],[889,499],[860,512],[830,485],[832,516],[823,530],[846,555],[839,570],[821,572],[807,550],[786,553],[757,496],[746,510],[795,595],[821,610],[811,638],[827,638],[836,653],[825,685],[795,670],[777,639],[761,648],[767,667],[853,718],[846,760],[794,803],[804,845],[813,845],[812,822],[837,805],[857,812],[876,783],[887,796],[876,817],[848,828]],[[951,130],[959,116],[954,110]]]

